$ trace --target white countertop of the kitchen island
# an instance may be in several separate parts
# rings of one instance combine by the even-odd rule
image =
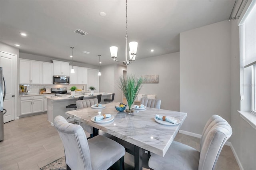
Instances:
[[[75,97],[70,97],[70,95],[63,95],[63,96],[48,96],[47,99],[51,99],[52,101],[60,101],[60,100],[70,100],[70,99],[78,99],[82,94],[75,94]],[[112,93],[94,93],[93,96],[90,96],[90,93],[86,93],[84,95],[84,99],[96,98],[97,95],[112,95]]]

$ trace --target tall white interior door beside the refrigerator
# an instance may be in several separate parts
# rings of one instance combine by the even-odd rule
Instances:
[[[0,66],[3,67],[6,83],[6,96],[4,99],[4,109],[7,110],[6,114],[4,114],[4,123],[6,123],[15,119],[16,55],[0,51]]]

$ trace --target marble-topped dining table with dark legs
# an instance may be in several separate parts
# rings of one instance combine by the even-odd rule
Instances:
[[[134,109],[134,113],[126,114],[115,109],[119,103],[98,105],[66,112],[80,123],[93,127],[94,135],[98,130],[112,136],[113,140],[123,144],[126,152],[134,155],[134,169],[142,170],[142,155],[148,153],[164,156],[172,144],[178,130],[186,119],[187,113],[141,107]],[[96,116],[110,114],[111,117],[95,121]],[[176,120],[170,123],[156,119],[156,115],[166,116]],[[111,137],[110,137],[111,138]]]

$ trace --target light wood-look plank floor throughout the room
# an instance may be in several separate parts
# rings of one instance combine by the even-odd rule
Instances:
[[[199,148],[199,138],[179,133],[175,140]],[[62,156],[62,141],[47,121],[47,114],[4,124],[4,140],[0,142],[0,170],[39,170]],[[125,162],[128,159],[126,156]],[[222,149],[215,170],[239,170],[229,146]]]

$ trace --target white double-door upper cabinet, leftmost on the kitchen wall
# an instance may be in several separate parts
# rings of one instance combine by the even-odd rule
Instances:
[[[42,62],[20,59],[20,84],[42,84]]]

